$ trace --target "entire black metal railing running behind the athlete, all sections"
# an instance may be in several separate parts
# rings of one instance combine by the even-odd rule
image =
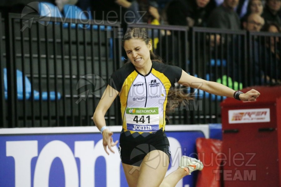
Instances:
[[[30,28],[21,31],[25,25]],[[154,53],[193,76],[235,90],[280,79],[280,34],[147,24],[131,27],[147,28]],[[0,28],[0,127],[94,125],[91,117],[107,80],[124,64],[121,38],[116,37],[121,26],[9,14]],[[267,46],[274,55],[268,55]],[[169,123],[220,122],[223,97],[199,89],[185,91],[195,93],[195,100],[176,109]],[[107,125],[121,124],[119,98],[105,118]]]

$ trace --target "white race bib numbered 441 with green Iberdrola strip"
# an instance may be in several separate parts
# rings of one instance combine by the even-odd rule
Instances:
[[[127,130],[155,132],[159,130],[158,107],[126,108]]]

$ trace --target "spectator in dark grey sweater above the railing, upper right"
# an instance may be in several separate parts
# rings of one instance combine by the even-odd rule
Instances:
[[[215,8],[208,19],[208,27],[221,29],[240,29],[240,19],[235,12],[239,0],[224,0],[223,4]]]

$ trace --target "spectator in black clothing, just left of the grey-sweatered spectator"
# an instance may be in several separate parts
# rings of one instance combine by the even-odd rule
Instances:
[[[216,7],[214,0],[173,0],[167,5],[169,25],[207,26],[207,18]]]

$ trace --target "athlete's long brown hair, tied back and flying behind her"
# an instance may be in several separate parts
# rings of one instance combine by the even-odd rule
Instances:
[[[124,47],[125,41],[131,39],[142,39],[146,45],[148,45],[150,41],[150,38],[148,37],[145,28],[128,28],[122,40],[122,46]],[[163,63],[163,60],[158,55],[155,55],[151,50],[150,50],[150,59],[152,61]],[[186,89],[176,88],[176,87],[170,88],[168,92],[168,102],[165,110],[167,119],[169,119],[168,115],[175,111],[175,108],[182,105],[182,103],[186,105],[189,103],[189,100],[194,99],[190,93],[185,93],[184,90]],[[173,101],[173,102],[169,102],[169,101]]]

